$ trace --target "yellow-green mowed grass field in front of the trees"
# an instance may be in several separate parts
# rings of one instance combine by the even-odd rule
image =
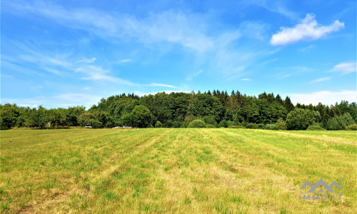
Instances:
[[[354,131],[74,128],[0,135],[2,213],[357,210]],[[299,200],[301,185],[320,178],[341,185],[341,200]]]

